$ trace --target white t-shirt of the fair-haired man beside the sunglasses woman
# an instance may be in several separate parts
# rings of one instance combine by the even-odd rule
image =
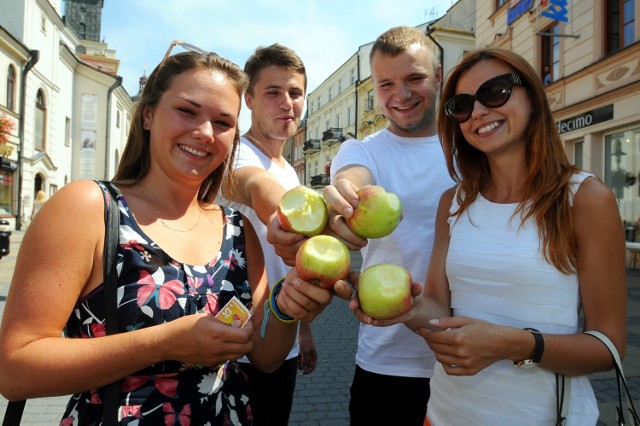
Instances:
[[[366,167],[376,185],[397,194],[404,215],[390,235],[369,240],[362,250],[362,268],[379,263],[401,265],[411,272],[413,281],[424,284],[438,202],[453,186],[439,138],[406,138],[381,130],[361,142],[344,142],[332,160],[332,179],[349,165]],[[435,357],[424,339],[403,324],[360,324],[356,363],[378,374],[431,377]]]

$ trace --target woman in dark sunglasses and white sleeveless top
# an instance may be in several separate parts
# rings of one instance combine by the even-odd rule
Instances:
[[[433,425],[594,425],[587,375],[625,351],[625,245],[616,200],[565,156],[540,77],[501,49],[467,54],[438,115],[449,173],[424,291],[401,320],[436,354]],[[584,314],[579,320],[580,309]],[[560,394],[562,396],[562,393]]]

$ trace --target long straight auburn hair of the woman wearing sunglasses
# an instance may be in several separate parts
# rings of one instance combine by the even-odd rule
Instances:
[[[569,181],[578,169],[567,159],[540,77],[524,58],[508,50],[486,48],[470,52],[447,76],[438,110],[438,134],[449,174],[461,189],[456,196],[460,208],[452,215],[460,215],[478,197],[490,170],[485,154],[471,146],[460,125],[445,115],[444,103],[455,96],[460,76],[486,60],[500,61],[520,76],[533,108],[524,135],[528,167],[524,198],[514,217],[520,214],[521,223],[533,218],[545,259],[561,272],[574,272],[577,245]]]

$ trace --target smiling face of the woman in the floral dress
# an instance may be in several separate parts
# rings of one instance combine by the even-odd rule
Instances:
[[[160,101],[143,112],[151,168],[202,181],[222,164],[236,135],[240,97],[220,71],[176,75]]]

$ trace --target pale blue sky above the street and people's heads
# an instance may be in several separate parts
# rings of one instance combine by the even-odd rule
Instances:
[[[120,60],[130,95],[172,40],[215,51],[241,67],[258,46],[282,43],[305,63],[308,92],[359,46],[397,25],[444,15],[452,0],[107,0],[102,37]],[[243,105],[241,127],[247,129]],[[243,124],[244,122],[244,124]]]

